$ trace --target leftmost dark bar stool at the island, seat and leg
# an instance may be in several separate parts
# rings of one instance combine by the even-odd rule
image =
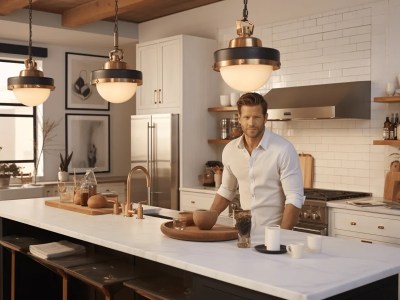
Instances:
[[[0,246],[11,252],[11,300],[15,300],[16,254],[21,253],[26,255],[30,245],[41,243],[43,241],[29,236],[10,235],[0,238]]]

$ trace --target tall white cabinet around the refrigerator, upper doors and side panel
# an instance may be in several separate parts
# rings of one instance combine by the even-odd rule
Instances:
[[[219,102],[220,75],[212,69],[215,50],[215,40],[189,35],[137,45],[136,67],[143,72],[143,85],[136,113],[179,114],[180,187],[198,184],[204,164],[218,159],[218,152],[205,143],[216,130],[207,112]]]

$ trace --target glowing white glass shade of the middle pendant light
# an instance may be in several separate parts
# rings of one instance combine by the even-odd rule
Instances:
[[[100,96],[111,103],[123,103],[131,99],[137,89],[136,82],[102,82],[96,84]]]

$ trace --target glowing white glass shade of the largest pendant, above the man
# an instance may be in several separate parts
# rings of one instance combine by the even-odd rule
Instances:
[[[271,65],[232,65],[221,67],[220,72],[222,79],[231,88],[249,92],[266,84],[272,69]]]

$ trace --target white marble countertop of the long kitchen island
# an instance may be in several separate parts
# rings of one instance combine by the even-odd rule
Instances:
[[[323,237],[322,253],[302,259],[268,255],[236,241],[188,242],[163,235],[165,219],[121,215],[90,216],[46,206],[57,198],[0,201],[0,217],[143,257],[172,267],[285,299],[326,298],[400,272],[400,249]],[[305,241],[306,234],[282,231],[282,244]]]

